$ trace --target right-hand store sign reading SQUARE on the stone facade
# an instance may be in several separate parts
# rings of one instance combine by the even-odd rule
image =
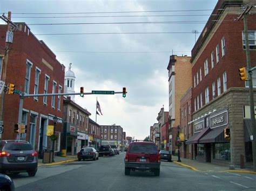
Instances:
[[[210,117],[211,129],[218,128],[228,124],[227,110],[221,110],[217,114]]]

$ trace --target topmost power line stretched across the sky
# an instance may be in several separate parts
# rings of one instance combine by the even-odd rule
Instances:
[[[187,11],[212,11],[212,9],[197,9],[197,10],[159,10],[159,11],[112,11],[112,12],[52,12],[52,13],[25,13],[12,12],[17,15],[68,15],[68,14],[99,14],[99,13],[139,13],[139,12],[187,12]]]

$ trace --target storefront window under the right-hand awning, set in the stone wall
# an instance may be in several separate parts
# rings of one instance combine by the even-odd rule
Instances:
[[[219,160],[230,160],[230,143],[215,143],[213,157]]]

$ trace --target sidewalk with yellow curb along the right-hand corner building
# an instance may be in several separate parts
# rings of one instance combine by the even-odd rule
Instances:
[[[253,169],[241,169],[235,168],[234,170],[230,170],[229,166],[215,165],[210,162],[199,162],[197,160],[180,158],[181,162],[177,162],[178,157],[172,156],[172,161],[175,164],[179,164],[181,166],[191,168],[193,171],[201,171],[201,172],[239,172],[239,173],[250,173],[256,174],[253,172]]]

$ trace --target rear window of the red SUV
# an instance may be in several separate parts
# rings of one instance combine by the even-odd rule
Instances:
[[[129,153],[157,154],[157,147],[154,144],[137,144],[137,143],[134,143],[130,146]]]

